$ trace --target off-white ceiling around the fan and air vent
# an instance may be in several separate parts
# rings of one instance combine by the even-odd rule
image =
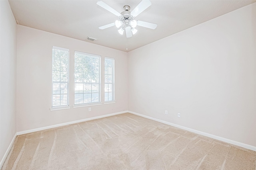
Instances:
[[[118,19],[114,14],[96,5],[96,0],[9,0],[18,24],[27,27],[85,40],[121,51],[132,51],[184,29],[211,20],[256,0],[151,0],[152,5],[136,20],[157,23],[156,29],[137,26],[138,32],[128,38],[120,35],[118,28],[98,29]],[[118,12],[124,5],[132,11],[140,0],[103,0]],[[88,41],[91,42],[91,41]]]

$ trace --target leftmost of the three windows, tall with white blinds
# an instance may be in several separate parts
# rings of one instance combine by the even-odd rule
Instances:
[[[69,50],[53,46],[52,108],[65,106],[69,106]]]

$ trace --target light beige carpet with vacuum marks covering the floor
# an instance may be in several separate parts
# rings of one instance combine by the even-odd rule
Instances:
[[[124,113],[17,136],[3,170],[256,170],[256,152]]]

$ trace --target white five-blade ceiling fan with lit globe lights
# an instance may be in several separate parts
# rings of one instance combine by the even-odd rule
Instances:
[[[150,0],[142,0],[134,8],[134,10],[132,10],[132,12],[129,11],[130,6],[125,5],[124,12],[121,12],[121,14],[119,12],[117,12],[116,10],[114,10],[113,8],[111,8],[110,6],[108,6],[103,1],[98,1],[96,4],[119,17],[119,20],[116,20],[114,23],[109,23],[107,25],[103,25],[103,26],[99,27],[99,29],[106,29],[106,28],[116,25],[117,28],[121,27],[120,29],[118,29],[118,33],[123,35],[124,30],[125,30],[126,37],[129,38],[129,37],[132,37],[132,35],[138,31],[137,29],[135,29],[135,27],[137,25],[139,25],[141,27],[150,28],[150,29],[156,29],[156,27],[157,27],[157,24],[155,24],[155,23],[135,20],[136,16],[138,16],[140,13],[142,13],[144,10],[146,10],[149,6],[151,6]]]

